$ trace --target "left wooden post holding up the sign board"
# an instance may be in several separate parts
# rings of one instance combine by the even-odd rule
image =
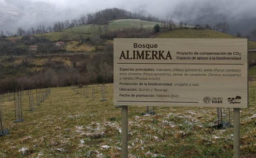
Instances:
[[[128,106],[122,105],[122,158],[128,158]]]

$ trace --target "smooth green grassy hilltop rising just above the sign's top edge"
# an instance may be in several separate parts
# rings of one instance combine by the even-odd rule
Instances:
[[[196,29],[176,29],[160,32],[155,38],[237,38],[231,34],[226,34],[214,30],[196,30]],[[249,41],[249,49],[256,49],[256,42]]]

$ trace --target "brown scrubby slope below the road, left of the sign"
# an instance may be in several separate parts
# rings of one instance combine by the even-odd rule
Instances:
[[[0,93],[21,89],[113,82],[112,53],[1,57]]]

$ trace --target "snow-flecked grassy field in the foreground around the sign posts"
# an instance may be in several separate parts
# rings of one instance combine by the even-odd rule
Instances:
[[[89,98],[81,89],[52,88],[49,97],[28,111],[23,94],[25,121],[14,124],[14,101],[2,104],[4,126],[1,158],[120,158],[121,108],[113,105],[113,85],[106,86],[106,102],[95,86]],[[241,110],[242,158],[256,156],[256,83],[250,85],[249,108]],[[35,98],[35,90],[34,100]],[[36,103],[36,101],[35,101]],[[216,130],[216,108],[157,107],[143,115],[144,106],[129,107],[129,158],[230,158],[233,128]],[[22,153],[21,149],[26,152]]]

